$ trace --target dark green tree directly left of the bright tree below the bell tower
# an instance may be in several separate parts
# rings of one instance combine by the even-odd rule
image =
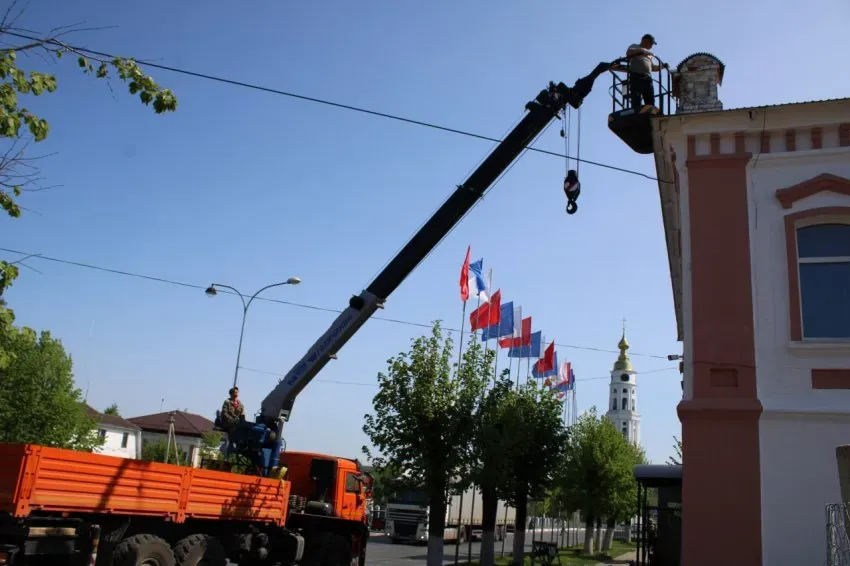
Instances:
[[[513,396],[503,428],[509,467],[498,490],[516,509],[514,564],[523,564],[529,500],[542,500],[553,487],[569,437],[560,401],[532,381]]]

